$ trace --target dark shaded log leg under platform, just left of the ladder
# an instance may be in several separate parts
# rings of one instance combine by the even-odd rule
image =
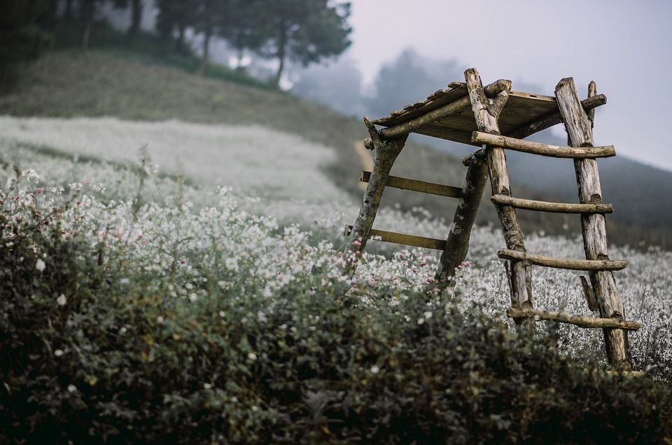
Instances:
[[[487,180],[487,164],[484,160],[476,160],[467,170],[460,200],[453,217],[453,224],[450,226],[448,238],[434,276],[435,282],[427,287],[428,292],[436,288],[445,289],[454,283],[455,269],[465,260],[469,251],[471,229],[476,219]]]

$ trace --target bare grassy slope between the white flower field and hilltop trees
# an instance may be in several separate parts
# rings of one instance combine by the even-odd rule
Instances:
[[[159,64],[158,59],[141,53],[118,49],[48,53],[35,64],[25,67],[18,85],[0,96],[0,114],[117,116],[148,121],[175,118],[195,123],[264,125],[335,149],[337,158],[326,168],[329,177],[353,198],[361,196],[357,183],[361,162],[353,142],[367,134],[358,119],[259,85],[195,76],[184,67]],[[461,185],[465,167],[456,157],[409,142],[395,163],[393,174]],[[514,187],[517,195],[522,197],[557,200],[521,184],[514,184]],[[455,205],[454,200],[422,193],[386,191],[383,204],[395,203],[402,209],[426,207],[435,216],[448,220]],[[665,246],[672,243],[664,228],[645,231],[622,219],[614,222],[624,216],[625,212],[610,217],[610,240],[613,242],[637,245],[640,240],[645,240]],[[569,230],[577,233],[580,230],[575,217],[535,212],[521,212],[520,217],[526,231],[567,233]],[[477,222],[498,225],[492,205],[484,202]]]

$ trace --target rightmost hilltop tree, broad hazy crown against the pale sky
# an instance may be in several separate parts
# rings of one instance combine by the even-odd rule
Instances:
[[[304,66],[339,55],[350,45],[350,3],[330,0],[268,1],[259,12],[265,45],[261,54],[278,60],[274,82],[280,84],[287,60]]]

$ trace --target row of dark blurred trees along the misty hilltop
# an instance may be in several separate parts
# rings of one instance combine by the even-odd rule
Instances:
[[[34,57],[48,45],[49,31],[61,20],[83,25],[81,45],[89,46],[94,20],[103,4],[130,8],[127,44],[141,29],[150,0],[10,1],[0,20],[0,64]],[[308,65],[342,53],[350,45],[350,3],[332,0],[155,0],[155,32],[166,51],[188,54],[188,30],[200,34],[201,74],[207,68],[212,39],[224,39],[242,59],[251,51],[277,62],[279,84],[288,62]],[[11,28],[11,29],[10,29]],[[9,31],[9,32],[8,32]],[[29,50],[28,50],[29,48]],[[6,55],[5,53],[12,53]],[[11,57],[10,57],[11,56]]]

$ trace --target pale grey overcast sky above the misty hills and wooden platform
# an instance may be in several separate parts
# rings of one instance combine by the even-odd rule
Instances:
[[[672,171],[662,137],[672,111],[672,1],[351,1],[347,56],[365,82],[408,47],[475,67],[484,83],[511,79],[514,90],[525,81],[540,85],[531,93],[553,95],[572,76],[584,97],[594,80],[608,98],[596,112],[595,144]]]

